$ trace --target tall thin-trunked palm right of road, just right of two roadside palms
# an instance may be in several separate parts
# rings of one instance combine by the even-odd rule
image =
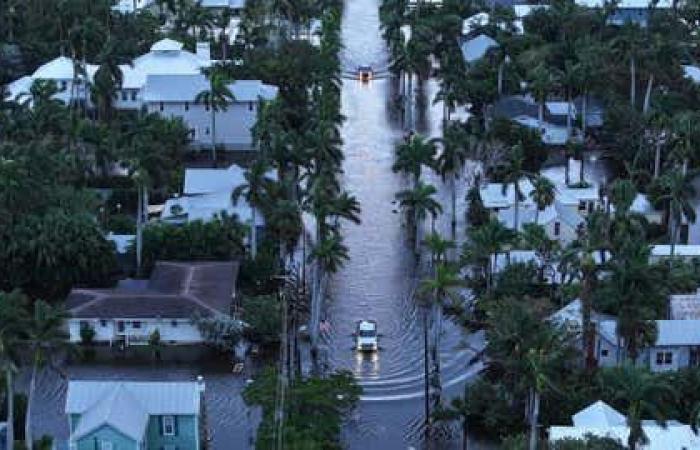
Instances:
[[[452,238],[457,233],[457,178],[459,178],[464,162],[467,159],[469,136],[460,124],[451,124],[445,127],[442,138],[442,153],[437,158],[437,171],[443,181],[450,177],[450,191],[452,195]]]

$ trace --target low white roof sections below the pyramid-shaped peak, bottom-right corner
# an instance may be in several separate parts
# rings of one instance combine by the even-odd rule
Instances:
[[[638,445],[639,450],[698,450],[700,443],[697,436],[688,425],[669,425],[666,429],[658,425],[647,424],[642,426],[644,434],[649,439],[649,443]],[[598,437],[608,437],[621,444],[627,444],[629,428],[626,426],[617,427],[550,427],[550,442],[562,439],[581,439],[593,435]]]

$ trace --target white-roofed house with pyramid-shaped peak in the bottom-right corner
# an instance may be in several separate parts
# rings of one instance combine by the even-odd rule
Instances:
[[[598,400],[571,416],[572,426],[549,428],[549,442],[562,439],[586,440],[589,435],[607,437],[627,445],[629,428],[627,418],[603,401]],[[675,420],[663,426],[655,420],[642,420],[642,429],[648,442],[639,444],[639,450],[697,450],[700,441],[689,425]]]

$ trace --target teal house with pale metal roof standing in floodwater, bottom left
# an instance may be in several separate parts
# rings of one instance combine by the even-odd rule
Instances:
[[[203,399],[203,381],[70,381],[70,450],[199,450]]]

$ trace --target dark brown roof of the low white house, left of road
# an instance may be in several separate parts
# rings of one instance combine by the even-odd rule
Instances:
[[[73,289],[66,308],[77,319],[181,319],[228,314],[238,273],[235,262],[156,263],[148,286]]]

